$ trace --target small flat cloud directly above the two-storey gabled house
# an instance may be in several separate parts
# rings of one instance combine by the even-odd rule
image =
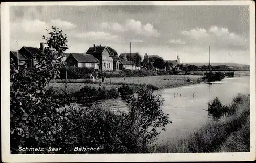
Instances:
[[[83,33],[77,33],[77,38],[82,39],[89,39],[89,40],[114,40],[117,39],[117,35],[111,35],[108,32],[95,32],[95,31],[89,31],[89,32],[83,32]]]

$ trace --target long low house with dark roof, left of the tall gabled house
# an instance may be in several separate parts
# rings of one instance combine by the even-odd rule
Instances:
[[[95,70],[99,70],[100,64],[96,57],[86,53],[70,53],[65,62],[67,66],[92,67]]]

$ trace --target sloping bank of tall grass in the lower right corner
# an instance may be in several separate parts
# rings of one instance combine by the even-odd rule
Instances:
[[[150,153],[248,152],[250,150],[250,99],[241,96],[236,113],[210,121],[184,138],[170,138],[150,148]]]

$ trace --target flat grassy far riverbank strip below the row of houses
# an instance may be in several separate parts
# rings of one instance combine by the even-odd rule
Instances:
[[[53,87],[56,91],[62,92],[65,90],[65,80],[54,80],[49,83],[48,88]],[[148,76],[148,77],[114,77],[106,78],[100,86],[100,80],[95,80],[95,83],[89,83],[88,79],[69,80],[67,84],[68,92],[77,92],[83,86],[93,86],[96,89],[99,87],[120,87],[121,85],[130,85],[132,87],[145,85],[153,85],[156,88],[174,88],[181,86],[188,86],[202,82],[202,76],[183,76],[183,75],[170,75],[170,76]]]

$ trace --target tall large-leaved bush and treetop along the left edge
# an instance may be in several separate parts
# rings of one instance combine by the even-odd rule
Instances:
[[[48,47],[36,55],[34,68],[10,66],[11,153],[18,147],[49,147],[55,141],[52,135],[62,117],[57,110],[63,103],[46,96],[45,86],[59,75],[68,45],[62,30],[52,27],[49,35],[43,36]]]

